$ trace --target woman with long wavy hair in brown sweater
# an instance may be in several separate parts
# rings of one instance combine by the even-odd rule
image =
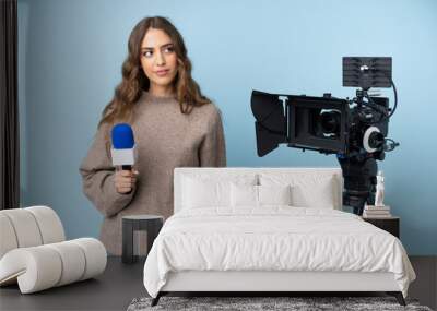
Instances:
[[[184,39],[160,16],[140,21],[129,37],[122,81],[105,107],[80,167],[83,191],[105,216],[101,240],[121,254],[121,216],[173,214],[175,167],[226,165],[220,110],[191,77]],[[138,156],[132,171],[115,170],[110,130],[128,122]]]

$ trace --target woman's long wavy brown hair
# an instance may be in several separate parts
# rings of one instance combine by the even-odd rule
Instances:
[[[143,91],[149,91],[150,81],[141,67],[141,43],[150,28],[165,32],[172,39],[178,62],[175,76],[175,98],[181,113],[190,113],[193,107],[211,103],[202,95],[198,83],[191,77],[191,61],[187,56],[184,38],[176,27],[165,17],[153,16],[141,20],[132,29],[128,43],[128,57],[122,63],[122,80],[117,85],[114,98],[102,112],[98,128],[116,122],[131,122],[133,107]],[[108,139],[107,139],[108,141]]]

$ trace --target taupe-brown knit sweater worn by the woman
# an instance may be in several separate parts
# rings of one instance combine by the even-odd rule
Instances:
[[[173,171],[175,167],[226,166],[225,140],[220,110],[214,104],[180,112],[179,104],[169,97],[144,92],[134,107],[131,123],[135,139],[139,171],[137,184],[129,194],[116,191],[110,154],[101,127],[83,159],[83,192],[104,215],[101,240],[107,251],[121,254],[121,217],[154,214],[173,215]]]

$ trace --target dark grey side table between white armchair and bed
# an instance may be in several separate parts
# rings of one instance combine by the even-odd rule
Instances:
[[[153,241],[164,224],[164,217],[158,215],[131,215],[122,217],[122,255],[123,263],[134,263],[138,255],[133,254],[133,232],[147,231],[147,254]]]

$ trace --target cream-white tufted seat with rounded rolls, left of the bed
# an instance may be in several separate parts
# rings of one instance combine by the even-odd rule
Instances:
[[[66,241],[54,210],[0,211],[0,286],[17,283],[22,294],[92,278],[105,271],[106,249],[94,238]]]

